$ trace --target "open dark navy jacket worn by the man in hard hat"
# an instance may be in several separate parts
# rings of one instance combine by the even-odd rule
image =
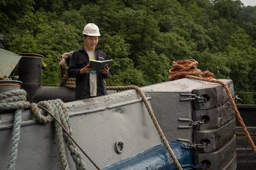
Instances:
[[[101,50],[95,50],[96,60],[106,60],[107,55]],[[69,61],[67,72],[69,77],[76,78],[76,100],[81,100],[90,97],[90,73],[79,74],[80,68],[89,64],[89,56],[85,49],[76,50],[73,52]],[[97,96],[107,95],[103,78],[108,78],[109,73],[103,74],[97,72]]]

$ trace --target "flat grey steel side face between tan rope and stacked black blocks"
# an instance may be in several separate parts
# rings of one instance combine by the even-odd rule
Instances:
[[[150,104],[160,127],[168,141],[176,141],[177,138],[192,141],[192,128],[178,128],[189,125],[189,122],[178,121],[178,118],[191,118],[191,102],[180,102],[180,93],[146,93],[152,99]]]

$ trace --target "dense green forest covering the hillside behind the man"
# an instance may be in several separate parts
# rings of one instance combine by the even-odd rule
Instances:
[[[1,48],[42,54],[44,84],[58,84],[64,52],[83,47],[85,24],[99,26],[98,48],[114,59],[107,85],[167,81],[172,61],[234,81],[255,104],[256,6],[239,0],[1,0]]]

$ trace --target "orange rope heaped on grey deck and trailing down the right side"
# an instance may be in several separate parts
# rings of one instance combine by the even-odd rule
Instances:
[[[235,105],[234,99],[232,98],[232,95],[230,93],[230,89],[226,85],[225,82],[218,81],[214,79],[214,73],[209,72],[208,70],[205,72],[202,72],[200,69],[197,68],[198,61],[190,60],[190,59],[182,59],[179,61],[173,61],[173,65],[171,66],[171,69],[169,70],[169,81],[174,81],[176,79],[182,79],[182,78],[188,78],[188,79],[196,79],[199,81],[207,81],[207,82],[216,82],[219,83],[225,88],[226,95],[228,95],[228,99],[230,100],[230,103],[232,105],[232,108],[235,111],[235,116],[239,123],[241,124],[241,127],[244,131],[244,134],[246,135],[248,142],[252,146],[252,149],[254,153],[256,153],[256,146],[253,143],[252,137],[250,133],[248,132],[246,126],[244,125],[243,118],[241,117],[240,112],[237,109],[237,106]]]

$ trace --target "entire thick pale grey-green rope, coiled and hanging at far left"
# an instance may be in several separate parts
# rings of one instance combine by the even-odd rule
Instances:
[[[76,163],[76,169],[85,169],[85,163],[81,159],[81,154],[77,144],[73,142],[71,137],[71,127],[69,125],[69,115],[67,109],[62,102],[62,100],[48,100],[39,102],[38,105],[47,108],[47,110],[54,113],[57,120],[61,121],[62,126],[65,130],[67,129],[67,134],[62,132],[62,126],[55,121],[56,130],[56,146],[58,150],[58,156],[60,157],[61,169],[69,169],[67,163],[67,157],[65,155],[65,143],[67,148],[71,152],[71,157]],[[42,109],[38,109],[37,104],[30,104],[26,101],[26,91],[23,89],[15,89],[12,91],[7,91],[0,94],[0,112],[16,110],[13,122],[13,132],[12,132],[12,144],[10,148],[10,158],[8,161],[8,170],[15,169],[15,162],[17,160],[20,132],[21,132],[21,121],[22,121],[22,111],[31,107],[31,112],[40,123],[49,123],[53,121],[53,117],[49,114],[47,116],[42,115]],[[84,152],[84,151],[83,151]],[[87,156],[87,155],[86,155]]]

